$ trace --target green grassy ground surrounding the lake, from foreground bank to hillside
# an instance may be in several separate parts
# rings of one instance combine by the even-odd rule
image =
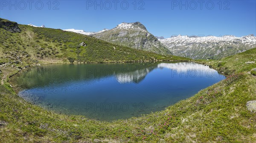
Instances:
[[[73,57],[75,61],[79,61],[79,56],[83,57],[83,53],[87,53],[88,51],[90,53],[90,50],[83,49],[80,53],[70,52],[71,49],[75,51],[78,48],[76,45],[77,43],[79,44],[80,40],[77,39],[81,36],[96,40],[93,37],[79,34],[75,34],[75,36],[79,35],[77,37],[71,36],[71,38],[62,39],[61,37],[65,36],[66,33],[67,35],[73,35],[74,33],[65,32],[64,35],[61,35],[61,30],[44,33],[40,32],[41,29],[38,30],[38,28],[26,25],[21,25],[20,27],[22,29],[20,34],[11,34],[0,29],[1,38],[4,38],[0,44],[2,57],[0,60],[2,63],[9,63],[4,66],[5,68],[2,68],[3,73],[8,70],[10,70],[9,73],[17,73],[20,70],[18,67],[23,68],[26,65],[47,63],[46,61],[53,63],[50,59],[54,59],[57,62],[63,62],[64,59],[68,62],[67,58]],[[52,29],[48,30],[51,31]],[[55,36],[55,34],[60,35]],[[38,38],[40,36],[41,38]],[[27,37],[33,37],[33,39],[31,41],[21,40]],[[39,42],[36,42],[35,39],[38,39]],[[54,42],[46,42],[47,39],[49,41],[53,41],[54,39]],[[63,40],[65,39],[69,39],[70,41],[64,42]],[[76,40],[77,42],[75,42]],[[85,42],[88,46],[90,45],[89,41]],[[96,40],[94,42],[98,41]],[[91,42],[91,44],[94,44],[94,42]],[[43,45],[41,43],[43,45],[47,44],[45,45],[47,47],[42,47]],[[75,47],[74,45],[70,45],[73,43],[76,43]],[[106,44],[109,43],[106,42]],[[64,45],[67,48],[64,48]],[[61,50],[60,46],[63,46],[66,50]],[[44,49],[40,50],[41,48]],[[89,58],[92,58],[92,61],[94,61],[94,57],[94,62],[105,60],[105,57],[101,57],[103,53],[99,50],[100,48],[102,47],[95,46],[92,48],[92,53],[98,53],[93,56],[88,55]],[[112,47],[106,46],[105,53],[111,55],[112,53],[108,52],[108,50],[114,50],[111,49]],[[120,49],[126,53],[138,52],[138,50],[130,48],[127,50],[125,47],[120,47]],[[52,52],[55,55],[49,55]],[[40,58],[41,53],[43,55],[47,53],[45,55],[48,57],[42,56]],[[148,54],[149,58],[151,57],[150,55],[157,55],[149,52],[140,54],[141,56],[138,56],[140,58],[145,56],[144,54]],[[124,54],[123,56],[125,55],[129,54]],[[14,92],[12,86],[8,83],[10,74],[2,75],[2,77],[6,76],[6,80],[3,80],[3,84],[0,85],[0,142],[255,143],[256,113],[247,110],[246,103],[250,100],[256,100],[256,79],[249,73],[252,68],[255,68],[256,64],[244,64],[244,62],[254,60],[255,55],[256,49],[254,48],[218,61],[198,61],[211,64],[213,68],[229,76],[227,79],[207,87],[191,98],[182,100],[163,111],[143,115],[139,118],[113,122],[95,121],[84,116],[60,115],[30,104]],[[17,56],[20,56],[22,60],[16,59]],[[111,59],[112,56],[108,57]],[[174,59],[174,57],[170,58]],[[111,59],[113,61],[120,61],[119,55],[112,58],[116,58]],[[125,58],[137,60],[137,57],[133,57],[132,54],[121,59],[123,60]],[[168,57],[160,55],[154,58],[168,59]],[[179,57],[177,57],[178,59]],[[84,58],[81,58],[81,61],[83,60]],[[180,60],[183,59],[180,58]],[[218,66],[219,63],[222,63],[219,61],[225,63]]]

